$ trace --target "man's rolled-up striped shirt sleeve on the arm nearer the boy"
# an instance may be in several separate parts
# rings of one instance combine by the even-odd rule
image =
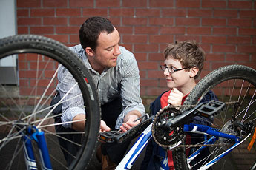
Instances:
[[[139,69],[134,55],[131,56],[130,62],[122,67],[125,67],[125,69],[121,81],[120,95],[122,98],[122,106],[124,107],[124,110],[116,120],[116,129],[120,129],[120,126],[123,123],[123,118],[125,118],[125,115],[128,114],[128,112],[137,110],[142,115],[145,115],[145,107],[142,104],[142,99],[140,98]]]

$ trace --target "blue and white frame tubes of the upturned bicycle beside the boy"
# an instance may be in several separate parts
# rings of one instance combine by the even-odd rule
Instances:
[[[122,161],[119,163],[119,165],[116,167],[117,170],[121,169],[131,169],[133,166],[135,160],[137,160],[137,157],[140,155],[142,150],[145,148],[145,146],[148,143],[148,140],[151,139],[152,137],[152,132],[151,132],[151,127],[152,123],[142,132],[142,135],[137,139],[136,143],[131,147],[129,152],[125,155],[125,157],[122,159]],[[235,144],[230,147],[229,149],[226,150],[226,152],[223,152],[217,157],[214,157],[209,163],[206,163],[205,166],[201,167],[200,170],[203,169],[209,169],[209,167],[213,166],[214,163],[217,163],[218,160],[220,160],[222,157],[225,157],[226,154],[229,154],[233,149],[235,149],[237,146],[240,145],[240,143],[243,143],[244,140],[246,140],[247,137],[250,136],[250,134],[245,137],[243,140],[240,141],[239,137],[235,135],[229,135],[223,132],[219,132],[217,129],[211,128],[209,126],[204,126],[200,124],[185,124],[183,126],[183,131],[184,132],[192,132],[192,133],[200,133],[204,135],[211,135],[212,137],[209,140],[205,140],[203,145],[207,144],[214,144],[215,141],[218,139],[218,137],[223,137],[226,139],[231,139],[235,141]],[[178,145],[175,145],[175,147]],[[174,149],[173,147],[172,149]],[[199,149],[197,149],[196,152],[191,154],[191,156],[188,157],[187,162],[190,163],[195,157],[197,157],[200,152],[205,149],[206,146],[201,146]],[[168,169],[168,157],[167,154],[165,155],[165,158],[161,162],[161,169]]]

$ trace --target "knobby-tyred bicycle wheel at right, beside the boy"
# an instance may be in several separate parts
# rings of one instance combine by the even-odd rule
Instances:
[[[215,129],[220,129],[220,132],[237,135],[240,137],[240,141],[249,136],[232,152],[211,166],[211,169],[249,169],[255,161],[256,149],[251,149],[250,152],[246,149],[256,125],[255,75],[255,69],[242,65],[221,67],[206,75],[192,89],[183,103],[185,106],[200,103],[203,98],[206,98],[206,93],[211,90],[217,95],[216,100],[226,103],[225,109],[214,116],[211,126]],[[250,122],[252,123],[252,128],[245,132],[244,128],[238,127],[234,122],[238,122],[244,127],[248,127]],[[206,137],[204,135],[190,135],[191,146],[188,144],[183,145],[183,147],[177,148],[173,152],[175,169],[200,169],[234,144],[234,140],[215,138],[216,141],[213,144],[203,149],[204,152],[190,162],[188,157],[199,146],[203,145],[203,141],[205,141],[203,137]],[[209,137],[211,136],[207,136],[208,139]]]

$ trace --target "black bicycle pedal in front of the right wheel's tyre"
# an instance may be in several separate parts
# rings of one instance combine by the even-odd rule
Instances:
[[[198,109],[200,115],[203,117],[209,118],[211,116],[217,115],[220,111],[222,111],[225,103],[221,101],[209,101]]]

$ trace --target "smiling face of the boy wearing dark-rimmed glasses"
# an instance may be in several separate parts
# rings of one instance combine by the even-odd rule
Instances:
[[[181,65],[180,61],[177,59],[168,57],[165,59],[165,65],[166,67],[171,67],[173,69],[182,69],[183,66]],[[191,82],[191,74],[190,71],[187,69],[183,69],[174,73],[168,72],[168,69],[165,69],[164,73],[166,78],[167,86],[172,88],[186,88]]]

